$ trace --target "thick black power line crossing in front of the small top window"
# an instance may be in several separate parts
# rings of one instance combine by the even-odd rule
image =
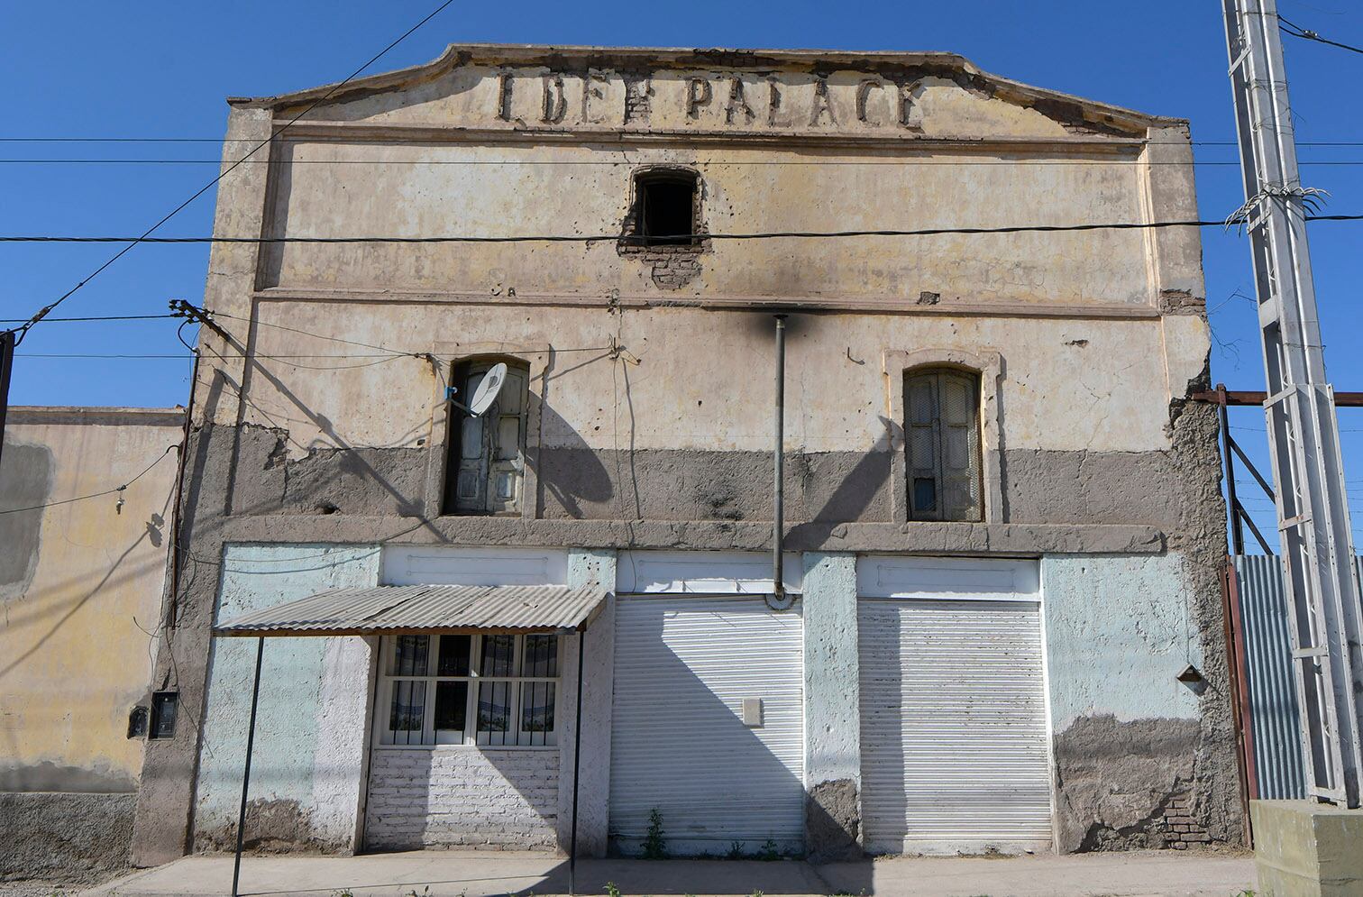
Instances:
[[[1348,215],[1304,215],[1306,221],[1363,221],[1363,214]],[[602,234],[507,234],[507,236],[432,236],[432,237],[74,237],[53,234],[5,234],[0,243],[634,243],[647,247],[650,241],[676,240],[778,240],[778,239],[829,239],[829,237],[930,237],[939,234],[987,234],[987,233],[1056,233],[1070,230],[1149,230],[1159,228],[1221,228],[1225,219],[1190,221],[1145,221],[1077,225],[1009,225],[1002,228],[916,228],[866,229],[866,230],[763,230],[748,233],[676,233],[653,237],[602,233]]]

